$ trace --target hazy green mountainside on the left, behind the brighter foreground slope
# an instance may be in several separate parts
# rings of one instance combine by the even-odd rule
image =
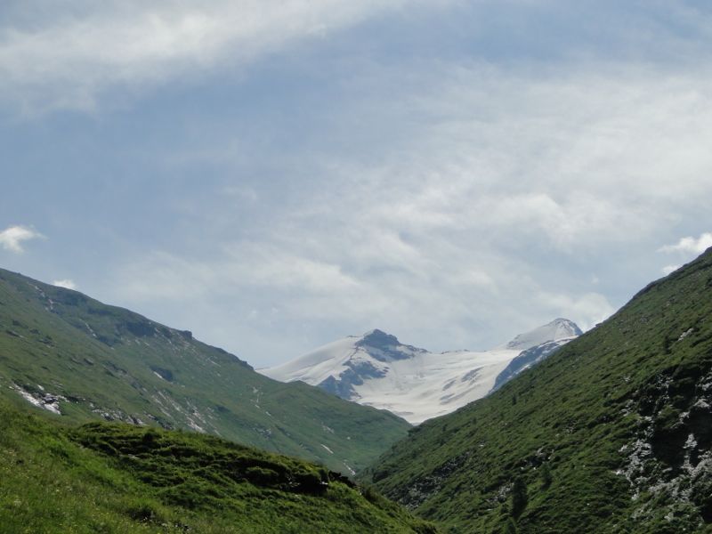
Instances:
[[[188,331],[0,270],[0,395],[73,422],[211,433],[354,473],[409,424],[282,384]]]

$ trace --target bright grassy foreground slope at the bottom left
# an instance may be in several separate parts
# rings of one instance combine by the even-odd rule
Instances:
[[[70,426],[20,402],[0,399],[0,533],[434,532],[302,460],[198,433]]]

